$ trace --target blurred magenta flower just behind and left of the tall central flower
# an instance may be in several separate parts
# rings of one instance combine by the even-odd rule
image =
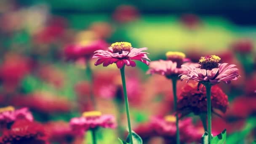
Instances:
[[[68,60],[91,59],[94,51],[103,49],[106,46],[107,43],[104,40],[94,40],[86,45],[69,45],[65,48],[64,53]]]

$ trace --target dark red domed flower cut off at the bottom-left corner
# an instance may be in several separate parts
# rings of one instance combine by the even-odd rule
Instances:
[[[3,132],[0,144],[49,144],[46,131],[40,123],[16,121],[10,130]]]

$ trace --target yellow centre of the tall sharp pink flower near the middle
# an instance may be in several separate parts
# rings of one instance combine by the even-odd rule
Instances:
[[[128,42],[116,42],[112,43],[111,48],[113,53],[122,53],[123,51],[131,51],[131,43]]]

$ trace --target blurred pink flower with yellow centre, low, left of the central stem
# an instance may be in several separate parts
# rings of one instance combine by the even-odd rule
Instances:
[[[102,115],[99,111],[84,112],[82,117],[72,118],[70,125],[79,134],[93,128],[115,128],[117,126],[113,115]]]

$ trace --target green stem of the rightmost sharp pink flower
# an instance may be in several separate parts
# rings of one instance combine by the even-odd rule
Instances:
[[[207,96],[208,144],[211,144],[211,85],[205,85]]]

